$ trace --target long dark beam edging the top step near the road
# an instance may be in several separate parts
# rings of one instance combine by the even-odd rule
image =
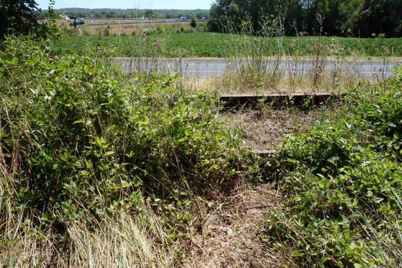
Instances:
[[[256,106],[259,103],[270,103],[273,106],[305,106],[320,105],[330,99],[337,99],[339,95],[329,92],[321,93],[279,93],[279,94],[236,94],[222,95],[219,101],[224,108]]]

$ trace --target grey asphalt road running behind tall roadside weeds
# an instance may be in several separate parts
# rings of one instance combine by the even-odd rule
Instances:
[[[158,71],[160,73],[177,73],[183,77],[193,78],[214,78],[226,73],[233,72],[241,66],[249,66],[250,61],[239,60],[237,62],[226,61],[225,59],[205,59],[205,58],[183,58],[183,59],[129,59],[115,58],[115,63],[121,64],[124,71]],[[311,73],[315,69],[313,60],[293,61],[281,60],[278,71],[283,75],[303,76]],[[269,60],[266,62],[265,69],[272,71],[276,62]],[[393,75],[393,67],[397,62],[386,61],[342,61],[327,60],[321,67],[326,74],[341,74],[346,76],[357,76],[362,78],[374,77],[384,79]],[[237,65],[237,66],[236,66]],[[262,69],[264,69],[262,67]]]

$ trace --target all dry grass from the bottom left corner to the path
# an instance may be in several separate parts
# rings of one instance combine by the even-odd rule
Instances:
[[[95,228],[85,222],[67,227],[69,242],[39,228],[40,219],[11,212],[0,225],[0,267],[173,267],[177,243],[168,243],[160,219],[151,210],[105,216]],[[35,222],[36,224],[34,224]],[[43,224],[45,226],[45,224]]]

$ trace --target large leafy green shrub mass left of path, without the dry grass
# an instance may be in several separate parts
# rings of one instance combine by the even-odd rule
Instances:
[[[129,81],[88,53],[56,55],[46,42],[6,39],[3,200],[63,232],[87,213],[92,222],[121,209],[141,211],[144,193],[174,218],[170,226],[182,226],[186,193],[208,198],[246,176],[240,137],[215,120],[216,97],[185,93],[172,76]]]

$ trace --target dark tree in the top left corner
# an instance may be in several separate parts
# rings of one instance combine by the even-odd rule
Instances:
[[[40,28],[35,0],[0,0],[0,39],[7,34],[25,35]]]

